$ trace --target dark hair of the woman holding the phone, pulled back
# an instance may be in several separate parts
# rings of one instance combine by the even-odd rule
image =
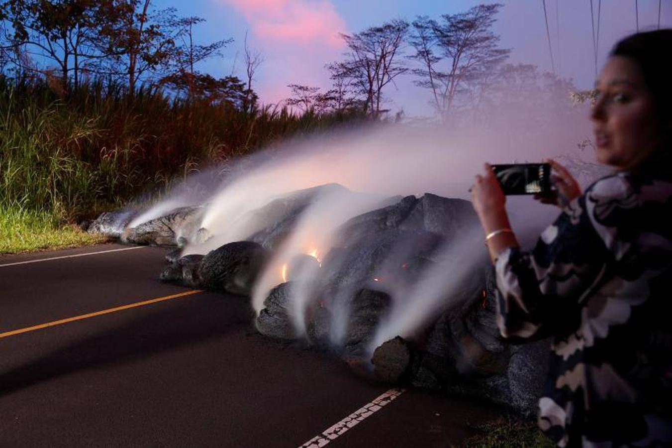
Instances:
[[[653,94],[656,114],[661,118],[663,147],[672,149],[672,30],[632,34],[618,42],[611,56],[632,59],[644,74],[646,87]]]

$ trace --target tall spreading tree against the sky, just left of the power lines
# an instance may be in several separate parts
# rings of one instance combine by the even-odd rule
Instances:
[[[416,83],[431,91],[432,105],[444,121],[458,94],[509,55],[509,50],[498,47],[499,36],[491,30],[501,6],[478,5],[466,13],[444,14],[439,21],[417,17],[413,22],[412,58],[421,64],[413,71],[419,77]]]

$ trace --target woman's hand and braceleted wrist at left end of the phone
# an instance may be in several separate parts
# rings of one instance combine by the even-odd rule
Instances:
[[[503,250],[518,246],[518,241],[511,231],[505,207],[506,196],[499,185],[499,180],[489,163],[486,163],[484,167],[485,174],[476,175],[474,186],[471,188],[471,200],[485,235],[501,231],[485,241],[490,259],[494,262]]]

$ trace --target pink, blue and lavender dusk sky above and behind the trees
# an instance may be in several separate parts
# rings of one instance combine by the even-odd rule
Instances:
[[[155,7],[175,7],[179,15],[206,19],[196,30],[200,43],[233,38],[222,58],[202,63],[200,71],[214,76],[244,78],[243,42],[261,52],[253,88],[261,102],[275,104],[290,96],[288,84],[304,84],[328,89],[325,64],[343,59],[345,46],[340,33],[361,32],[388,20],[413,20],[417,15],[439,18],[446,13],[467,11],[484,3],[471,0],[155,0]],[[489,3],[489,2],[485,2]],[[501,46],[511,48],[509,61],[533,63],[552,71],[544,1],[511,0],[504,4],[493,30],[501,36]],[[612,45],[637,30],[658,26],[672,28],[672,0],[546,0],[546,13],[555,73],[573,79],[581,89],[595,81],[593,24],[599,42],[597,66],[603,65]],[[601,5],[601,6],[600,6]],[[637,5],[637,11],[636,7]],[[407,53],[410,49],[407,48]],[[413,85],[405,76],[385,91],[386,106],[407,116],[430,114],[429,92]]]

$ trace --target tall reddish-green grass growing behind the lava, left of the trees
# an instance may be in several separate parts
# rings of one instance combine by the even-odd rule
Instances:
[[[46,81],[0,76],[0,215],[74,223],[210,163],[358,118],[247,113],[146,88],[131,98],[102,80],[61,98]]]

